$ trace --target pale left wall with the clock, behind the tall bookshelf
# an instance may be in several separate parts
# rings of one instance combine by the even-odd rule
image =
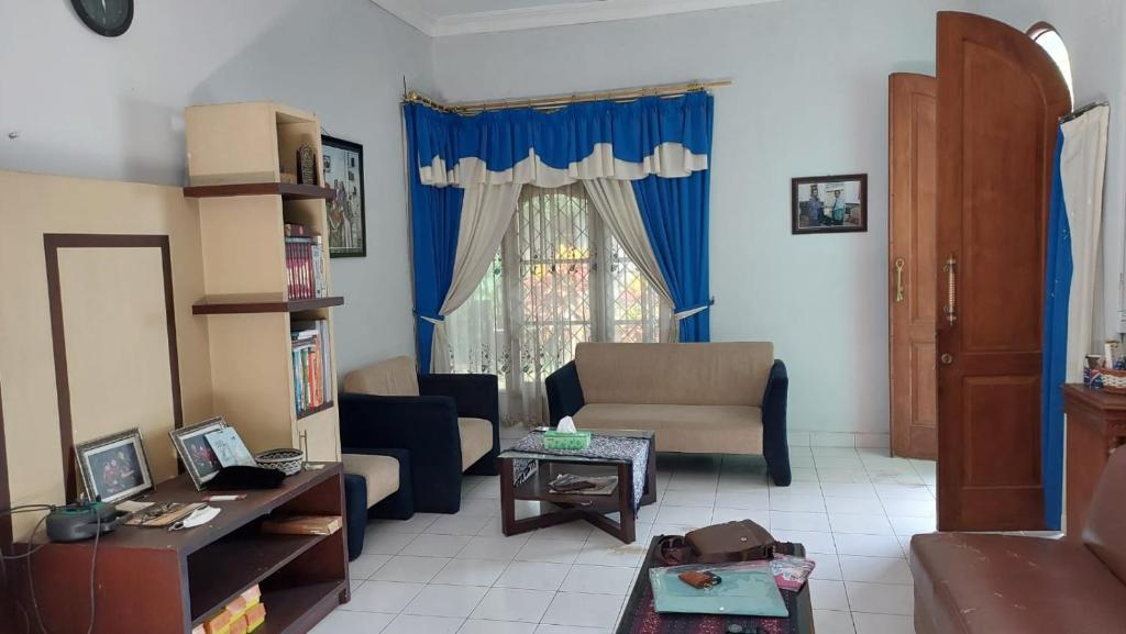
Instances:
[[[181,185],[185,106],[318,113],[365,151],[368,257],[332,260],[347,372],[413,349],[399,100],[403,75],[434,86],[430,54],[368,0],[145,0],[116,39],[69,0],[0,0],[0,169]]]

